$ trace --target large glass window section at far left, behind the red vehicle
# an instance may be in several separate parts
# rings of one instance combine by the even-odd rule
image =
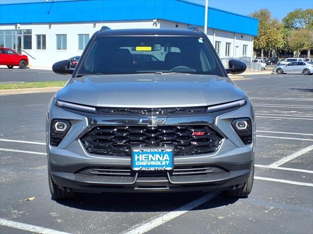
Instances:
[[[0,46],[11,48],[19,53],[31,50],[31,29],[0,30]]]

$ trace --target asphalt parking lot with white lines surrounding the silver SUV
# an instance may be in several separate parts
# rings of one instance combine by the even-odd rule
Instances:
[[[1,70],[0,81],[5,76]],[[256,177],[242,199],[198,192],[53,201],[45,151],[53,94],[0,96],[0,233],[312,234],[313,76],[248,75],[235,83],[251,98],[257,120]],[[29,197],[35,199],[24,201]]]

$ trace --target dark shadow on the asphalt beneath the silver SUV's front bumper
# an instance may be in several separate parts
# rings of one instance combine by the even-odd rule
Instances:
[[[55,202],[79,210],[101,212],[170,212],[195,199],[210,193],[102,193],[80,194],[72,200]],[[219,193],[213,199],[196,207],[194,210],[205,210],[233,204],[238,198],[225,197]]]

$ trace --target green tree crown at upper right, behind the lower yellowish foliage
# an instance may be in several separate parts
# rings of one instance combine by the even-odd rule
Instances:
[[[283,23],[286,28],[298,30],[298,29],[309,29],[313,30],[313,9],[295,9],[294,11],[287,14],[283,18]]]

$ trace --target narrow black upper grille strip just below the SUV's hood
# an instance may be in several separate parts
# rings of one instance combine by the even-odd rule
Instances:
[[[143,116],[168,116],[205,114],[207,107],[179,107],[179,108],[115,108],[99,107],[98,113],[105,115],[143,115]]]

